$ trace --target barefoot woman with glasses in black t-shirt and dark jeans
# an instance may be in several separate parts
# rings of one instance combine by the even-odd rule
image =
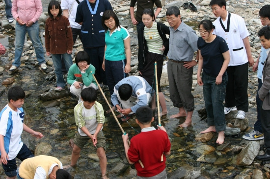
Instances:
[[[197,81],[200,86],[203,85],[207,122],[210,126],[201,134],[218,132],[216,143],[222,144],[226,130],[223,101],[228,81],[226,69],[230,62],[229,48],[224,39],[212,34],[215,26],[211,21],[201,21],[198,28],[201,37],[197,43],[199,49]]]

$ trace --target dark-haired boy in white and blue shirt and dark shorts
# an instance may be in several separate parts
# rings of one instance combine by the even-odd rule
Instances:
[[[22,105],[26,97],[25,91],[19,86],[8,90],[8,104],[0,112],[0,163],[7,179],[15,179],[17,175],[16,157],[24,160],[34,157],[27,146],[21,141],[23,130],[37,138],[43,135],[33,131],[24,124],[24,110]]]

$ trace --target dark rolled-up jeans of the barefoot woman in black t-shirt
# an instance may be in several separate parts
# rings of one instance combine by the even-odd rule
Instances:
[[[222,77],[220,85],[216,85],[215,76],[209,76],[204,72],[202,74],[207,123],[209,126],[215,126],[216,132],[226,130],[223,101],[225,99],[227,81],[228,77],[226,72]]]

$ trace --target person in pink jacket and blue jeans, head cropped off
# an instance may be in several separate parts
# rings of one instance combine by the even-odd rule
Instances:
[[[38,18],[42,13],[41,0],[13,0],[11,12],[16,20],[16,44],[15,59],[9,71],[14,71],[21,65],[20,60],[25,44],[26,33],[28,33],[32,44],[35,47],[38,65],[40,65],[43,70],[47,69],[43,46],[39,39]]]

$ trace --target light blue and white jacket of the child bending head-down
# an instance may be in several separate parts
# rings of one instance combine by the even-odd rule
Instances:
[[[129,76],[127,78],[122,79],[115,85],[113,89],[114,92],[111,95],[110,99],[113,106],[119,105],[119,101],[117,98],[117,91],[119,87],[123,84],[129,84],[133,90],[131,95],[137,97],[138,100],[137,104],[131,107],[131,110],[133,112],[136,112],[139,107],[147,105],[148,100],[146,93],[151,94],[152,92],[155,92],[144,78],[140,76]]]

